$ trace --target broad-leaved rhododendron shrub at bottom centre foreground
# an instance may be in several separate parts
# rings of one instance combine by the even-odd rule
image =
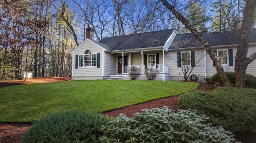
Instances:
[[[196,114],[196,110],[177,110],[152,108],[136,113],[133,118],[121,114],[113,121],[102,125],[104,136],[101,143],[203,143],[223,142],[235,143],[232,133],[222,126],[211,127],[202,123],[204,115]],[[228,135],[229,134],[229,135]]]

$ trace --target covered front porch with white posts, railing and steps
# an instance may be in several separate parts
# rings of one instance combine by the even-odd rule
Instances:
[[[169,80],[168,65],[164,64],[165,50],[160,49],[147,50],[147,51],[126,51],[116,54],[116,74],[111,74],[107,79],[130,79],[129,73],[136,69],[140,71],[138,80],[147,80],[145,70],[155,69],[158,74],[154,80]]]

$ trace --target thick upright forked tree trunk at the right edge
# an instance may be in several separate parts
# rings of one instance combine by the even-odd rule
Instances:
[[[238,41],[238,48],[236,52],[235,60],[235,87],[245,88],[245,75],[246,68],[256,58],[256,53],[252,54],[250,58],[247,58],[248,43],[250,39],[250,33],[252,31],[254,18],[256,11],[256,0],[246,0],[246,6],[244,8],[243,20],[241,26],[241,33]]]

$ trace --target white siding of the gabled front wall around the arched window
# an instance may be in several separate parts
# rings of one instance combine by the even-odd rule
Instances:
[[[90,50],[92,54],[100,53],[100,68],[97,67],[78,67],[78,69],[75,69],[76,67],[76,55],[83,55],[86,50]],[[74,79],[87,79],[83,77],[93,77],[96,76],[98,78],[102,78],[102,49],[98,47],[96,44],[94,44],[91,41],[86,41],[83,45],[81,45],[76,51],[74,51],[74,59],[73,59],[73,77],[79,77],[79,78],[72,78]],[[97,79],[98,79],[97,78]],[[94,78],[92,78],[94,79]]]

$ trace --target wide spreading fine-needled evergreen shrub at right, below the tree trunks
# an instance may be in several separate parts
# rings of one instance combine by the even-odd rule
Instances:
[[[211,92],[190,92],[178,100],[180,109],[198,109],[213,125],[232,132],[256,133],[256,90],[220,87]]]

